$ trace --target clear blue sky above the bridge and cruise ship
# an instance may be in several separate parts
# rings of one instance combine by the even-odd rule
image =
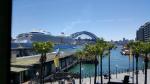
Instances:
[[[52,35],[89,31],[105,40],[135,39],[150,21],[150,0],[13,0],[12,37],[33,30]]]

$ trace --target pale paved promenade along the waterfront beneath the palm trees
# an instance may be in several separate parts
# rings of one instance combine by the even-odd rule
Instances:
[[[130,73],[121,73],[121,74],[117,74],[117,78],[116,78],[116,74],[112,75],[112,79],[110,80],[111,82],[122,82],[122,80],[124,79],[125,75],[130,75],[129,78],[129,82],[132,83],[132,72]],[[148,78],[147,78],[147,83],[150,83],[150,69],[148,69],[148,74],[147,74]],[[136,76],[134,76],[136,77]],[[104,78],[104,77],[103,77]],[[91,81],[91,83],[90,83]],[[136,78],[134,78],[134,81],[136,81]],[[143,72],[140,70],[139,71],[139,84],[144,84],[144,74]],[[100,82],[100,76],[97,77],[97,82]],[[108,82],[108,79],[103,79],[104,83]],[[53,83],[45,83],[45,84],[59,84],[58,82],[53,82]],[[69,84],[67,83],[67,81],[65,81],[65,84]],[[75,84],[79,84],[79,79],[75,79]],[[84,78],[82,79],[82,84],[94,84],[94,77],[91,78]]]

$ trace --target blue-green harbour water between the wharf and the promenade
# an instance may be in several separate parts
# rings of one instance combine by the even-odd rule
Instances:
[[[111,68],[111,73],[116,73],[125,71],[129,69],[129,56],[122,55],[120,53],[121,51],[121,46],[118,46],[118,48],[111,50],[111,55],[110,55],[110,68]],[[130,59],[130,70],[132,70],[132,57]],[[135,64],[135,61],[134,61]],[[103,74],[108,73],[108,56],[103,57]],[[143,59],[139,57],[139,69],[143,69]],[[134,65],[135,66],[135,65]],[[82,76],[92,76],[94,75],[94,64],[82,64]],[[71,69],[68,70],[68,72],[73,72],[73,73],[79,73],[79,64],[76,66],[72,67]],[[98,64],[97,72],[100,75],[100,63]]]

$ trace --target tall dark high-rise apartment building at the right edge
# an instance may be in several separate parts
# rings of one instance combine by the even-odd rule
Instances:
[[[150,40],[150,22],[142,25],[139,30],[136,31],[136,40],[149,41]]]

